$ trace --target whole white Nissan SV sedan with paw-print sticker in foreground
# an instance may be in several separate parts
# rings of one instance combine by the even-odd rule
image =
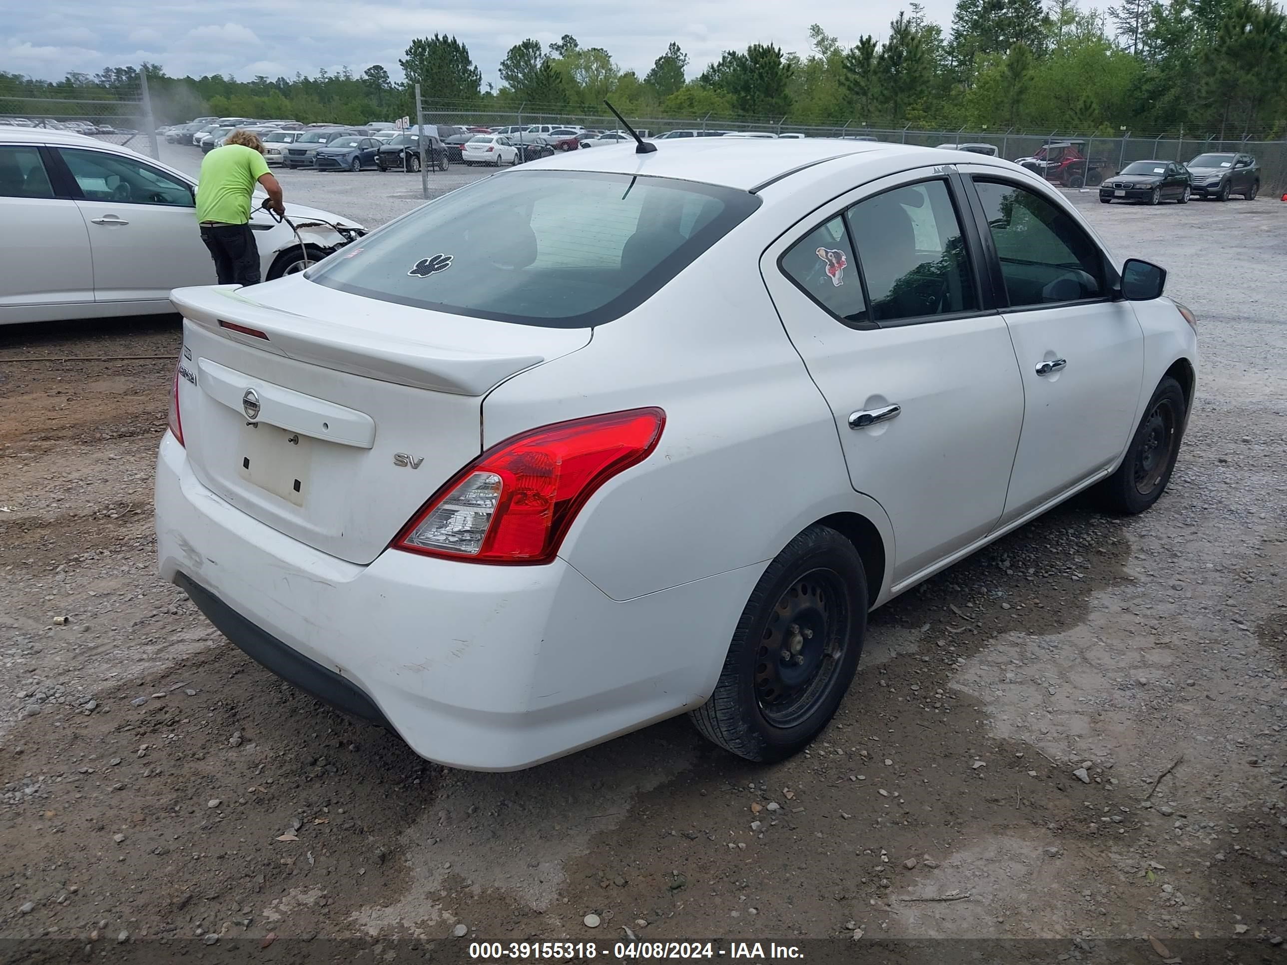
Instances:
[[[870,607],[1082,488],[1161,495],[1197,363],[1163,282],[978,154],[561,153],[174,292],[161,573],[444,764],[682,712],[780,758]]]

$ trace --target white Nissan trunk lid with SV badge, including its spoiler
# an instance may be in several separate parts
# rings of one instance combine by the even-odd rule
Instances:
[[[436,313],[300,275],[178,288],[171,301],[184,315],[179,404],[197,479],[356,564],[380,556],[479,454],[488,391],[591,338],[587,328]]]

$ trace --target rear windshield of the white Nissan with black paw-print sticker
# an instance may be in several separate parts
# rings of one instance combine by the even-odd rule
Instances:
[[[514,171],[417,208],[308,277],[400,305],[586,328],[644,302],[758,206],[671,178]]]

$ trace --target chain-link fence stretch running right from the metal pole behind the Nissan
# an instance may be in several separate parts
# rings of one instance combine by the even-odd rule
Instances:
[[[425,104],[427,124],[453,124],[463,127],[503,127],[530,124],[580,125],[592,130],[616,130],[620,122],[605,113],[569,113],[541,109],[483,112],[462,106]],[[1063,147],[1071,144],[1081,156],[1059,165],[1058,174],[1051,179],[1069,188],[1094,187],[1106,178],[1112,178],[1131,161],[1180,161],[1187,162],[1198,154],[1216,152],[1246,152],[1256,157],[1261,170],[1261,192],[1282,194],[1287,192],[1287,140],[1251,140],[1250,138],[1224,138],[1218,135],[1194,136],[1183,133],[1158,136],[1135,136],[1122,131],[1120,136],[1109,138],[1076,131],[1031,131],[958,129],[924,130],[907,127],[871,127],[853,122],[840,125],[794,125],[788,118],[759,121],[730,121],[705,117],[701,120],[676,117],[632,117],[631,124],[649,135],[669,130],[705,131],[768,131],[772,134],[803,134],[810,138],[874,138],[875,140],[920,147],[940,144],[991,144],[1000,157],[1008,161],[1030,158],[1040,154],[1063,156]]]

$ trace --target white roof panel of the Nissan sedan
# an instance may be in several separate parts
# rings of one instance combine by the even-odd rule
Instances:
[[[873,160],[915,156],[925,165],[961,162],[961,152],[910,144],[830,138],[694,138],[656,143],[656,151],[647,154],[569,151],[539,163],[546,170],[646,174],[750,190],[799,169],[853,154],[869,154]],[[972,161],[977,157],[972,156]]]

